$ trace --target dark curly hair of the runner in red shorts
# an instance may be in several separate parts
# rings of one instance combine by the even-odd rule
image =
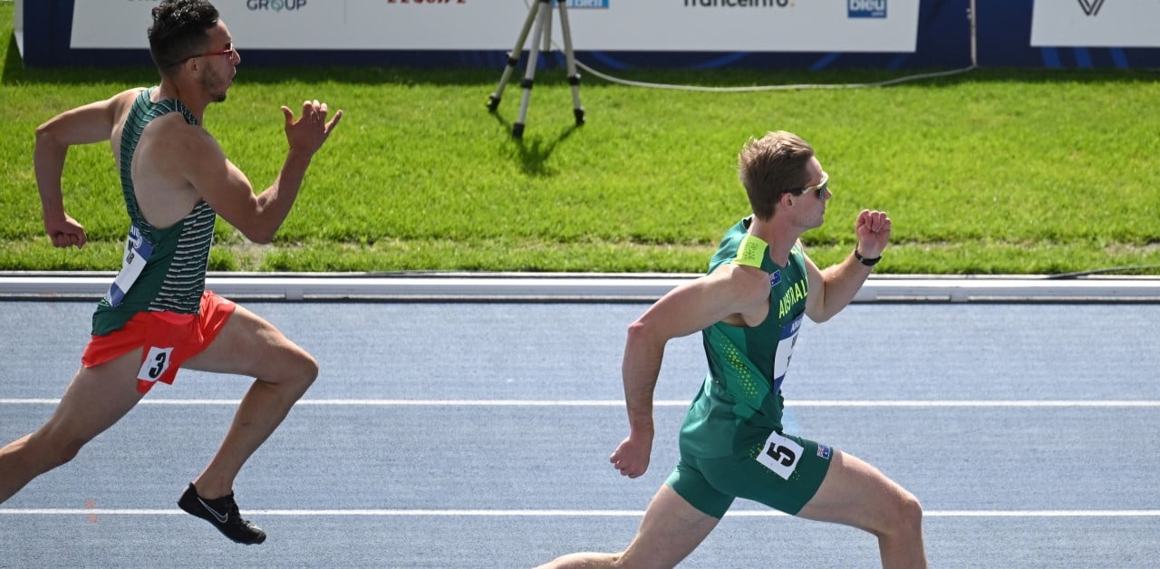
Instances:
[[[161,74],[205,50],[205,31],[217,25],[218,12],[206,0],[165,0],[153,8],[148,53]]]

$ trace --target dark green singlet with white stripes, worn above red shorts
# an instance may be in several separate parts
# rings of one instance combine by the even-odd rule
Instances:
[[[169,112],[181,112],[187,123],[201,124],[176,99],[150,101],[154,89],[143,90],[133,101],[121,134],[121,191],[131,225],[121,272],[93,314],[93,334],[97,336],[121,329],[138,312],[196,314],[205,290],[205,268],[217,220],[213,209],[198,202],[183,219],[158,229],[145,220],[137,205],[130,173],[145,125]]]

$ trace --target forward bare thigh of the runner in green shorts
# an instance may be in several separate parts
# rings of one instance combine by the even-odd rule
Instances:
[[[834,454],[821,487],[798,516],[863,530],[882,527],[909,494],[857,457],[841,451]]]

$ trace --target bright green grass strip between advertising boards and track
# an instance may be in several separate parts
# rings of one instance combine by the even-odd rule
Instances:
[[[12,5],[0,3],[10,38]],[[143,31],[144,32],[144,31]],[[107,145],[75,147],[67,211],[81,251],[43,234],[36,126],[154,85],[151,68],[26,70],[0,60],[0,270],[114,270],[125,214]],[[278,105],[325,100],[346,117],[316,156],[273,246],[218,224],[215,270],[703,270],[748,212],[735,155],[789,130],[831,174],[827,223],[804,236],[825,265],[854,246],[863,207],[890,212],[879,272],[1027,273],[1151,265],[1160,273],[1160,82],[1152,71],[983,70],[887,88],[713,94],[586,79],[574,127],[563,72],[538,73],[523,141],[520,90],[484,107],[500,70],[254,68],[205,126],[259,190],[285,152]],[[847,82],[877,71],[633,71],[697,85]]]

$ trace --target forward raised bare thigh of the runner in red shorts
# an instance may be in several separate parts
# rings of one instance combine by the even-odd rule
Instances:
[[[274,324],[238,305],[210,345],[181,366],[268,379],[306,359],[310,355]]]

